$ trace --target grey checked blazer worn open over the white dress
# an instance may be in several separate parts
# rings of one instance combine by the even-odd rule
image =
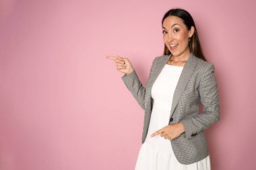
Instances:
[[[152,85],[170,57],[171,54],[154,58],[145,87],[139,81],[135,70],[122,77],[133,97],[145,110],[142,144],[146,140],[154,103],[151,97]],[[199,114],[200,102],[203,104],[202,114]],[[181,122],[185,128],[181,136],[170,140],[174,155],[180,163],[195,163],[209,155],[203,130],[218,120],[220,104],[214,65],[191,53],[174,91],[169,118],[169,124]]]

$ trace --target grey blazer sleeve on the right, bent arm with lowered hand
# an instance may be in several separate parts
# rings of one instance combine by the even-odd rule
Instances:
[[[187,139],[193,138],[201,130],[208,128],[220,120],[218,85],[212,63],[207,65],[203,72],[199,83],[199,95],[203,104],[203,113],[181,121]]]

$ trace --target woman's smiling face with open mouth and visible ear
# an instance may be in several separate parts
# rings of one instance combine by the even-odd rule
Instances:
[[[193,36],[194,28],[187,30],[183,20],[177,16],[168,16],[164,19],[162,34],[164,44],[172,53],[172,56],[189,56],[189,38]]]

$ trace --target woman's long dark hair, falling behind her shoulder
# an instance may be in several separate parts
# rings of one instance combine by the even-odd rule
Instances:
[[[201,58],[202,60],[206,61],[200,46],[199,38],[197,35],[197,28],[195,27],[195,22],[192,16],[190,15],[190,13],[180,8],[170,9],[164,14],[164,17],[162,18],[162,25],[164,23],[164,19],[168,16],[180,17],[183,20],[183,23],[187,26],[187,30],[190,30],[191,26],[195,28],[195,32],[189,41],[189,50],[198,58]],[[171,52],[168,50],[167,46],[164,44],[164,55],[170,55],[170,54]]]

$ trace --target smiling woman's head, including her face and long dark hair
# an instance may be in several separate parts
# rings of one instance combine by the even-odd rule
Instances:
[[[168,11],[162,19],[162,34],[164,55],[179,55],[189,50],[198,58],[206,61],[201,50],[195,22],[187,11],[181,9]],[[182,43],[183,46],[176,50],[175,45],[179,45],[178,43]]]

